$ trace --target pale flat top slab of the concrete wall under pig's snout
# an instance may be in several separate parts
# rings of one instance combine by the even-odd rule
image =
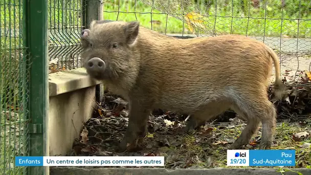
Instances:
[[[101,84],[100,81],[90,78],[84,68],[49,74],[49,96],[87,88]]]

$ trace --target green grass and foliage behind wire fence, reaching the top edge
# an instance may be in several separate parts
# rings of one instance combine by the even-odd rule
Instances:
[[[282,8],[280,0],[267,1],[266,5],[263,1],[259,8],[254,8],[249,0],[206,0],[207,3],[199,1],[199,6],[194,4],[194,1],[187,2],[184,0],[184,4],[180,2],[170,1],[168,4],[166,0],[140,0],[136,2],[133,0],[120,1],[118,4],[119,1],[108,0],[104,2],[103,17],[112,20],[139,20],[142,26],[151,29],[152,25],[153,30],[162,33],[165,31],[166,33],[190,33],[187,31],[187,25],[179,19],[183,19],[187,12],[194,11],[206,16],[204,19],[206,30],[215,30],[216,33],[275,37],[280,35],[289,37],[311,36],[311,21],[306,20],[311,18],[311,14],[307,10],[309,8],[301,5],[300,13],[299,10],[293,8],[299,9],[297,6],[299,1],[285,0],[287,4],[284,8]],[[308,0],[301,0],[301,4],[309,2]],[[216,3],[217,9],[215,8]],[[207,4],[209,5],[208,8]],[[168,16],[163,12],[166,12]],[[151,23],[151,17],[152,21],[157,23]],[[299,33],[298,17],[301,18],[299,20]],[[185,30],[183,30],[183,26]]]

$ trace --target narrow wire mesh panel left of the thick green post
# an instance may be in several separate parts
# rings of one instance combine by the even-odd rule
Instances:
[[[29,79],[21,1],[0,0],[0,174],[23,174],[15,156],[28,155]]]

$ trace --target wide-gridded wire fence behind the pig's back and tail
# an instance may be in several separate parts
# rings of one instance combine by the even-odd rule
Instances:
[[[164,34],[241,34],[260,40],[278,53],[281,71],[292,78],[288,85],[297,83],[301,71],[309,71],[308,0],[108,0],[103,8],[104,19],[138,20]]]

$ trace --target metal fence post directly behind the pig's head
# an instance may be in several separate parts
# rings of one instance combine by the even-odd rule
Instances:
[[[84,18],[83,26],[85,28],[90,27],[92,20],[102,20],[103,19],[103,1],[102,0],[84,0],[83,1]],[[96,85],[96,101],[102,102],[104,100],[104,84]]]

